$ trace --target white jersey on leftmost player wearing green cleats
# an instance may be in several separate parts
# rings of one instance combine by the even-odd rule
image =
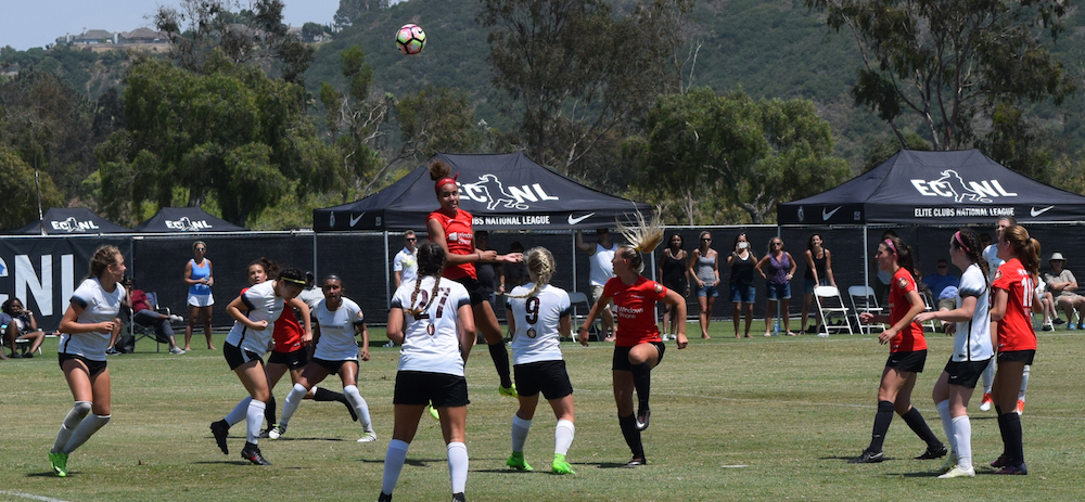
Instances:
[[[82,307],[82,312],[76,318],[79,324],[95,324],[110,322],[120,314],[120,303],[125,299],[125,288],[117,284],[113,293],[102,288],[98,278],[82,281],[72,293],[72,303]],[[110,348],[110,333],[62,333],[58,351],[73,356],[82,356],[91,361],[104,361],[105,350]]]

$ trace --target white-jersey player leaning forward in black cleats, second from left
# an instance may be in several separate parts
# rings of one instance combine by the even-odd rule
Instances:
[[[264,411],[271,398],[271,388],[268,385],[261,356],[268,351],[273,323],[282,313],[283,305],[292,300],[301,304],[295,297],[303,287],[305,287],[305,273],[297,269],[285,269],[279,273],[278,279],[245,289],[244,294],[226,307],[227,313],[234,319],[234,322],[230,334],[226,336],[222,356],[248,389],[248,397],[245,398],[248,400],[245,410],[245,448],[241,450],[241,458],[256,465],[271,465],[257,446]],[[309,321],[306,319],[303,322],[307,329],[306,336],[311,338]],[[215,436],[215,442],[224,454],[230,453],[226,443],[229,434],[227,422],[224,419],[210,424],[212,435]]]

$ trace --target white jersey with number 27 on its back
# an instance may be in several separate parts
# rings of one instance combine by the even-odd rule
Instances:
[[[460,307],[471,305],[471,297],[462,284],[442,279],[437,295],[430,301],[433,292],[432,275],[422,278],[422,287],[412,306],[410,297],[414,293],[414,281],[405,282],[392,297],[392,308],[404,311],[404,346],[399,351],[399,371],[424,371],[463,376],[463,358],[460,357],[459,324]],[[411,316],[411,308],[430,307],[420,312],[418,319]]]

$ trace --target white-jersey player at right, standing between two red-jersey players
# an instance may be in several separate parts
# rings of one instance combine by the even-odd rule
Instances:
[[[986,261],[980,255],[980,236],[971,229],[960,229],[949,240],[949,258],[965,273],[957,288],[957,308],[923,312],[919,323],[932,319],[952,321],[955,333],[953,355],[934,384],[934,404],[942,417],[942,428],[949,441],[949,458],[945,474],[940,478],[973,477],[972,424],[968,419],[968,400],[972,397],[980,374],[995,356],[991,344],[991,288],[987,284]]]

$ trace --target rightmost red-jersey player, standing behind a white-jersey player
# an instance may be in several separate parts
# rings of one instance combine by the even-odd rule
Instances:
[[[991,463],[996,474],[1029,474],[1024,464],[1021,415],[1014,409],[1025,365],[1036,356],[1036,332],[1032,311],[1041,311],[1036,299],[1039,242],[1024,227],[1007,227],[998,235],[998,258],[1006,260],[991,283],[994,299],[991,320],[998,322],[998,369],[991,397],[1003,436],[1003,454]]]

